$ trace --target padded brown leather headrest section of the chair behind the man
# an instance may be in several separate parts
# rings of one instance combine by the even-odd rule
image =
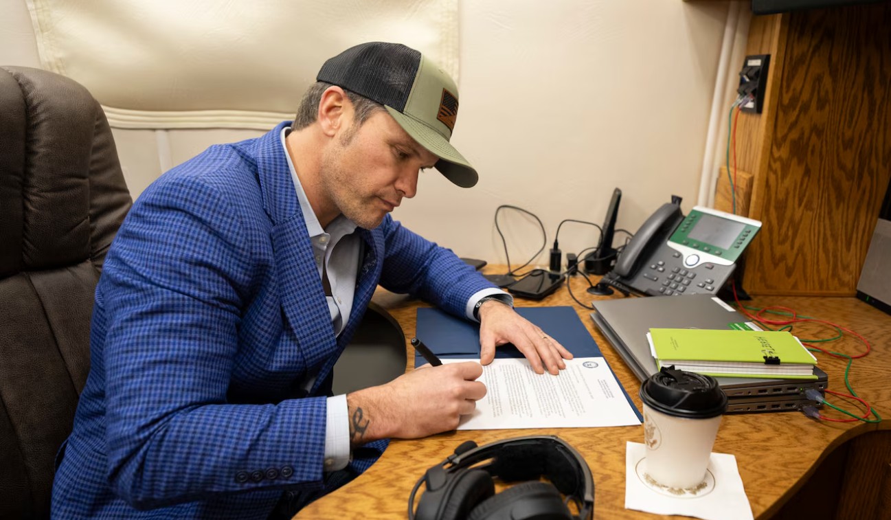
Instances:
[[[101,266],[130,207],[102,107],[82,85],[0,67],[0,278]]]

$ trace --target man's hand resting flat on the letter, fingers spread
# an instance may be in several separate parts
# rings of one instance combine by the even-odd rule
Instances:
[[[487,365],[495,359],[495,346],[512,343],[526,356],[532,370],[556,375],[566,368],[564,359],[572,354],[537,325],[520,316],[510,306],[488,300],[479,307],[479,362]]]

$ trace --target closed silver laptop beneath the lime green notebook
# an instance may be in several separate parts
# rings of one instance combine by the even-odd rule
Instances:
[[[650,329],[732,329],[735,323],[756,328],[730,305],[711,295],[629,297],[593,302],[591,318],[637,378],[658,371],[646,334]],[[823,393],[826,372],[814,367],[816,379],[716,378],[729,400],[728,412],[798,410],[815,404],[805,390]]]

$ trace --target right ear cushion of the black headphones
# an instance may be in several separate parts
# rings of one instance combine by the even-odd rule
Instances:
[[[508,509],[519,500],[526,500],[529,506],[534,505],[535,508],[530,510],[528,506],[523,506],[519,512],[528,511],[529,517],[535,518],[572,518],[569,508],[563,503],[563,497],[552,483],[532,481],[519,483],[509,487],[503,492],[498,493],[490,499],[486,499],[476,508],[470,511],[468,520],[484,520],[486,518],[513,518],[519,520],[526,516],[511,515]],[[505,510],[507,509],[507,510]],[[503,511],[507,515],[498,516]],[[544,516],[547,514],[547,516]],[[534,516],[533,516],[534,515]]]

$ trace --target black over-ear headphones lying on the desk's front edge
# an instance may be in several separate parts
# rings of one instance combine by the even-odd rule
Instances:
[[[551,483],[540,482],[542,475]],[[531,482],[495,494],[494,477]],[[427,487],[414,511],[421,483]],[[578,516],[572,516],[560,493],[575,500]],[[591,469],[578,451],[553,435],[516,437],[482,447],[462,443],[454,455],[418,479],[408,498],[411,520],[587,520],[593,511]]]

